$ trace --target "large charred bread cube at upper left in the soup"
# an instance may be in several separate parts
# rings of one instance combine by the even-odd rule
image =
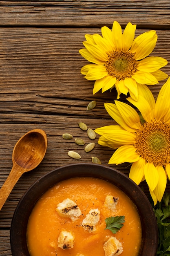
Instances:
[[[71,218],[71,220],[75,221],[82,214],[78,205],[71,199],[64,199],[61,203],[57,204],[56,211],[62,217]]]

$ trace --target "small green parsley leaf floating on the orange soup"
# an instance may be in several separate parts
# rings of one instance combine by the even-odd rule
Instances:
[[[113,234],[116,234],[121,227],[123,227],[123,224],[125,222],[125,216],[116,216],[116,217],[108,217],[105,220],[106,222],[106,228],[110,229]]]

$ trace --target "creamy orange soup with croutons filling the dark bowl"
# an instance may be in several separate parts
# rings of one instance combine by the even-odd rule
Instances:
[[[75,216],[67,215],[64,205],[68,202],[75,203],[73,207],[66,204],[73,212],[77,209]],[[89,214],[95,215],[94,226],[88,222]],[[105,219],[116,216],[124,216],[125,222],[113,234],[105,229]],[[66,234],[71,242],[61,246]],[[115,255],[138,256],[141,236],[140,218],[130,198],[117,186],[92,177],[68,179],[46,191],[35,204],[27,226],[31,256],[109,256],[106,242],[110,238],[121,245]]]

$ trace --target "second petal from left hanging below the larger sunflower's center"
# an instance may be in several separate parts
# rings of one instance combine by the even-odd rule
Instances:
[[[152,163],[147,163],[144,168],[144,175],[150,190],[153,191],[159,181],[157,168]]]

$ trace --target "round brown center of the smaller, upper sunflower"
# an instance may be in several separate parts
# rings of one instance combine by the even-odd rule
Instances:
[[[135,54],[132,52],[123,51],[110,54],[105,64],[108,74],[115,76],[119,80],[130,77],[136,71],[138,64],[134,56]]]

